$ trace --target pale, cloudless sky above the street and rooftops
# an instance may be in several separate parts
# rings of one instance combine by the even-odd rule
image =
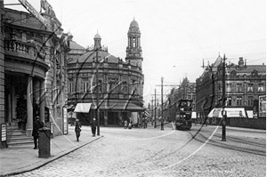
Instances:
[[[166,85],[190,82],[202,75],[205,65],[219,54],[227,62],[247,65],[266,64],[265,0],[47,0],[61,20],[64,32],[84,47],[93,45],[93,36],[109,53],[125,59],[127,32],[132,20],[141,30],[143,97],[151,102],[161,77]],[[4,4],[19,3],[4,0]],[[39,0],[28,0],[37,12]],[[21,5],[6,8],[26,11]],[[169,93],[173,86],[165,86]],[[160,101],[160,96],[158,96]]]

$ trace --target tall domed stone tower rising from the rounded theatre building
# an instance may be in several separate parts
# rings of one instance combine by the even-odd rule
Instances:
[[[136,20],[133,20],[128,30],[128,46],[126,48],[127,62],[142,68],[141,33]]]

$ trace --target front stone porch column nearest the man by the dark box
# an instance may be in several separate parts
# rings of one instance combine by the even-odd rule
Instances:
[[[33,88],[32,76],[28,75],[27,84],[27,136],[31,136],[33,128]]]

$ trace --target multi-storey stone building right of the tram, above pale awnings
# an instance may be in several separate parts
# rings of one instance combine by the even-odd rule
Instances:
[[[266,94],[266,66],[247,65],[240,57],[238,64],[226,64],[225,97],[227,108],[253,110],[254,101]],[[196,82],[196,110],[202,120],[210,110],[223,106],[223,59],[207,67]],[[247,115],[251,117],[251,115]]]

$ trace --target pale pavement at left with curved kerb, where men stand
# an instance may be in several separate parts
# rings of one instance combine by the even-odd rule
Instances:
[[[0,149],[0,176],[26,173],[63,157],[76,149],[99,140],[103,136],[92,136],[91,127],[83,126],[79,141],[76,139],[75,126],[69,126],[69,133],[55,136],[50,143],[50,157],[39,157],[34,144]]]

